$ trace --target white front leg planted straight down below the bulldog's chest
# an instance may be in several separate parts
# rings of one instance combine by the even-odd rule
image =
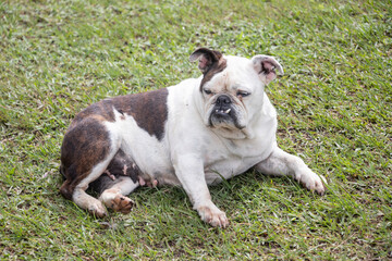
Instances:
[[[175,174],[201,220],[212,226],[229,225],[225,213],[211,201],[205,178],[204,165],[195,156],[181,156],[174,161]]]

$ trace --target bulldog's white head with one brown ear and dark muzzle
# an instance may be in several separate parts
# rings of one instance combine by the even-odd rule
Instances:
[[[265,86],[277,77],[275,70],[283,74],[279,62],[267,55],[249,60],[200,48],[189,60],[198,60],[204,74],[199,95],[205,124],[231,132],[246,128],[261,112]]]

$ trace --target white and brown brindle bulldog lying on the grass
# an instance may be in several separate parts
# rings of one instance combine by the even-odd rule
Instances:
[[[101,217],[128,213],[138,186],[182,186],[201,220],[229,224],[208,185],[254,167],[290,175],[320,195],[324,179],[277,145],[277,112],[265,87],[283,74],[272,57],[189,57],[203,75],[154,91],[105,99],[72,121],[61,147],[61,194]],[[94,198],[88,187],[98,192]]]

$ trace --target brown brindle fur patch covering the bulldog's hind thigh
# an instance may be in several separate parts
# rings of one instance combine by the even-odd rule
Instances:
[[[94,117],[71,125],[61,146],[61,171],[65,182],[61,194],[72,199],[73,191],[109,153],[110,140],[105,126]]]

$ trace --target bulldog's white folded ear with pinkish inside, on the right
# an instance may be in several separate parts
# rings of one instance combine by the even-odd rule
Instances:
[[[277,72],[283,74],[283,69],[280,63],[272,57],[256,55],[252,58],[255,71],[259,74],[259,77],[266,85],[277,78]]]

